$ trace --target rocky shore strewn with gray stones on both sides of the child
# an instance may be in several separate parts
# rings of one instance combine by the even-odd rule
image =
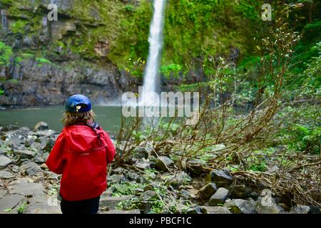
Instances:
[[[61,213],[60,175],[44,162],[58,132],[46,123],[34,129],[0,127],[0,213]],[[120,152],[120,149],[118,149]],[[317,206],[285,205],[270,190],[235,185],[228,170],[169,171],[173,160],[137,148],[131,164],[109,167],[100,213],[282,214],[320,213]],[[170,169],[173,170],[173,169]]]

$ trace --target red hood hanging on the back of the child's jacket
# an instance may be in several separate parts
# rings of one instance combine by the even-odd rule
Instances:
[[[96,133],[103,136],[101,129],[95,129]],[[86,152],[95,148],[106,146],[104,140],[100,140],[95,131],[87,125],[70,125],[63,128],[63,138],[69,151]]]

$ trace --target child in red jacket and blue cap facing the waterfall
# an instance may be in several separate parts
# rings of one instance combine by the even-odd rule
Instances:
[[[91,101],[84,95],[66,100],[65,126],[46,160],[49,170],[62,174],[61,212],[96,214],[106,190],[107,165],[115,147],[108,134],[94,122]]]

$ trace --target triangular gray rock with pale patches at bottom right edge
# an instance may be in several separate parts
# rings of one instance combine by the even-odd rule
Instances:
[[[255,211],[258,214],[281,214],[284,212],[282,207],[270,196],[258,197],[255,203]]]

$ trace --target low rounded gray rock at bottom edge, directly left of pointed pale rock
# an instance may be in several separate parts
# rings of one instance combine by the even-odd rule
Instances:
[[[255,214],[255,204],[245,199],[228,199],[225,207],[233,214]]]

